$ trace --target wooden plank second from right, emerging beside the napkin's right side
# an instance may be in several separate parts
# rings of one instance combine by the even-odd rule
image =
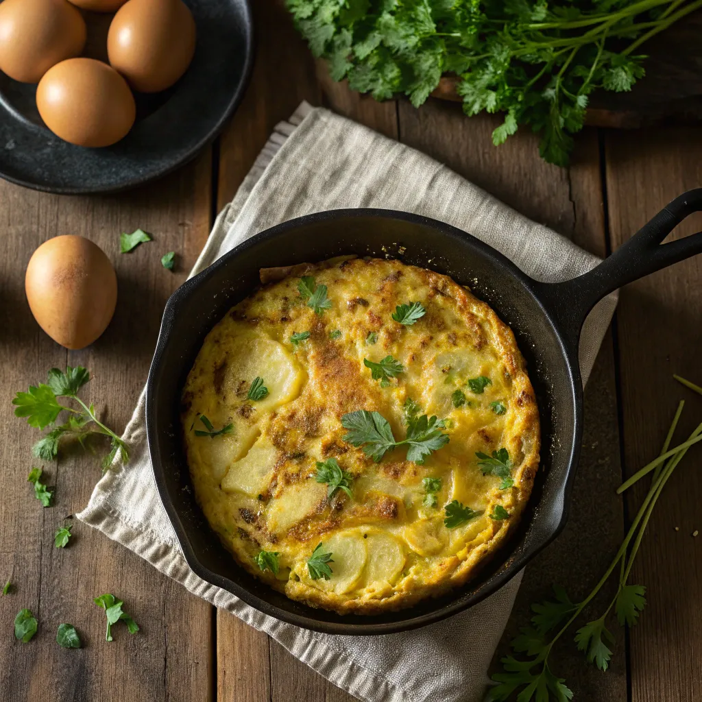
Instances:
[[[442,161],[506,204],[573,239],[588,251],[605,253],[602,183],[597,133],[585,130],[568,169],[538,156],[538,139],[519,133],[494,147],[491,132],[499,117],[467,119],[461,108],[429,100],[419,110],[399,103],[402,141]],[[615,494],[621,482],[618,463],[616,390],[611,338],[605,340],[585,392],[583,454],[568,525],[559,538],[527,567],[522,588],[497,657],[507,650],[519,626],[529,619],[529,604],[548,594],[553,582],[573,597],[587,594],[621,543],[623,508]],[[592,485],[597,484],[597,490]],[[614,527],[613,527],[614,525]],[[593,534],[595,537],[593,538]],[[572,555],[577,554],[574,558]],[[607,595],[592,608],[599,616]],[[555,656],[555,670],[583,699],[621,700],[626,696],[625,647],[615,630],[617,656],[607,675],[584,664],[572,635]]]

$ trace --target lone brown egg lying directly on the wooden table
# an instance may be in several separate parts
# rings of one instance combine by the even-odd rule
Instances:
[[[92,241],[69,234],[34,251],[25,274],[29,309],[48,336],[69,349],[93,343],[117,305],[117,275]]]

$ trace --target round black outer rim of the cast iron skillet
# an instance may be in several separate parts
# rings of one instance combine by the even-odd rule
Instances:
[[[186,297],[197,294],[196,291],[208,277],[216,274],[220,267],[227,266],[230,261],[234,260],[241,252],[246,251],[253,246],[256,246],[260,241],[265,241],[266,239],[272,239],[277,237],[280,232],[284,232],[291,228],[306,224],[306,223],[316,223],[324,220],[331,220],[343,217],[364,217],[372,216],[378,218],[390,218],[393,220],[401,220],[411,223],[424,223],[434,229],[441,231],[444,234],[449,234],[452,237],[458,237],[459,239],[464,239],[466,237],[470,238],[470,242],[473,246],[480,249],[482,253],[488,258],[494,260],[494,262],[506,268],[512,275],[514,275],[519,282],[521,282],[531,293],[538,303],[543,314],[545,314],[548,319],[552,322],[554,329],[557,331],[557,336],[561,344],[561,351],[567,360],[567,366],[569,369],[569,385],[572,388],[573,396],[569,398],[569,402],[574,405],[574,432],[573,437],[569,446],[569,468],[567,470],[567,476],[562,484],[562,492],[559,496],[562,499],[562,515],[559,520],[559,524],[552,531],[549,538],[545,538],[542,543],[539,543],[534,548],[531,548],[529,552],[523,554],[521,559],[517,559],[512,562],[503,572],[498,575],[491,576],[489,581],[482,583],[478,590],[473,592],[472,595],[468,597],[461,597],[461,590],[463,588],[468,588],[469,583],[463,586],[463,588],[456,588],[453,593],[456,595],[453,600],[448,602],[448,604],[439,605],[438,609],[426,612],[425,614],[420,614],[418,616],[412,616],[412,608],[398,610],[392,614],[403,614],[406,613],[407,617],[404,619],[398,619],[396,621],[382,622],[372,621],[372,617],[369,617],[369,623],[343,623],[342,622],[330,622],[330,621],[320,621],[312,617],[301,616],[294,614],[289,611],[285,611],[276,607],[270,602],[262,600],[260,597],[254,595],[249,590],[242,588],[238,583],[234,583],[229,578],[220,576],[214,573],[210,569],[204,567],[197,556],[194,554],[192,548],[190,547],[190,541],[187,536],[187,529],[183,527],[183,523],[180,521],[180,516],[175,506],[171,502],[170,495],[168,494],[168,489],[164,481],[163,475],[163,465],[161,465],[158,449],[157,449],[157,436],[155,425],[155,409],[154,409],[154,382],[155,376],[159,370],[159,366],[162,359],[166,353],[166,345],[168,342],[168,337],[171,333],[171,317],[176,312],[178,305],[181,300]],[[536,293],[536,282],[531,279],[527,274],[522,272],[515,263],[512,263],[506,256],[497,251],[496,249],[485,244],[484,241],[473,237],[471,234],[459,230],[457,227],[453,227],[447,223],[435,220],[422,215],[417,215],[409,212],[383,209],[383,208],[340,208],[334,210],[326,210],[316,213],[307,214],[292,220],[287,220],[286,222],[280,223],[274,227],[270,227],[263,232],[255,234],[253,237],[242,241],[241,244],[237,245],[231,251],[228,251],[218,260],[208,266],[205,270],[187,280],[180,288],[178,288],[173,295],[168,298],[166,302],[166,307],[164,309],[164,316],[161,322],[161,329],[159,331],[159,338],[157,341],[157,347],[154,350],[154,357],[152,360],[152,365],[149,372],[149,377],[147,380],[146,387],[146,425],[147,425],[147,440],[149,444],[150,457],[152,462],[152,474],[154,475],[154,482],[157,486],[157,491],[161,504],[164,506],[166,515],[168,515],[168,520],[171,522],[173,531],[176,534],[176,538],[180,545],[180,548],[185,557],[185,561],[188,566],[194,571],[194,573],[202,578],[204,581],[216,585],[227,592],[231,592],[233,595],[239,597],[243,602],[249,604],[251,607],[258,609],[258,611],[272,616],[273,618],[283,621],[285,623],[293,624],[301,628],[317,631],[319,633],[329,633],[337,635],[383,635],[390,633],[399,633],[402,631],[413,630],[420,628],[432,623],[442,621],[454,614],[458,614],[465,609],[475,606],[479,602],[482,602],[486,597],[493,594],[497,590],[506,585],[512,578],[514,578],[523,568],[526,562],[533,559],[534,556],[541,552],[546,546],[548,546],[562,531],[567,521],[568,516],[568,503],[569,497],[572,491],[574,477],[576,473],[576,467],[578,463],[578,457],[580,453],[581,435],[582,435],[582,382],[580,375],[580,368],[577,362],[577,358],[574,360],[569,352],[569,347],[562,336],[562,333],[557,326],[557,323],[552,319],[552,314],[550,310],[543,305],[538,293]],[[157,464],[159,468],[157,468]],[[212,535],[213,539],[216,539],[216,535]],[[314,608],[310,607],[310,612],[314,612]],[[390,613],[389,613],[390,614]],[[340,616],[340,615],[339,615]]]

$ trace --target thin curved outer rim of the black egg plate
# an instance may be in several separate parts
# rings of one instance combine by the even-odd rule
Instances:
[[[115,185],[114,187],[91,187],[90,185],[81,187],[61,187],[53,185],[44,185],[42,183],[32,183],[30,180],[24,180],[22,178],[16,178],[15,176],[8,175],[6,173],[0,173],[0,178],[6,180],[8,183],[13,185],[20,185],[21,187],[26,187],[29,190],[36,190],[37,192],[49,192],[56,195],[95,195],[95,194],[115,194],[119,192],[125,192],[126,190],[133,190],[135,187],[140,185],[146,185],[147,183],[152,183],[154,180],[160,180],[165,178],[170,173],[177,171],[178,168],[186,166],[191,161],[201,153],[201,151],[208,145],[216,140],[216,138],[222,133],[227,121],[232,117],[232,114],[237,110],[237,107],[241,104],[241,100],[244,98],[244,92],[249,86],[249,81],[251,80],[251,73],[253,72],[253,53],[256,48],[256,37],[253,32],[253,13],[251,11],[251,0],[240,0],[242,4],[242,9],[244,11],[245,18],[245,29],[246,29],[246,58],[244,62],[244,72],[241,74],[241,81],[237,86],[237,89],[232,93],[232,98],[227,105],[226,110],[222,112],[220,118],[216,122],[215,126],[211,131],[206,134],[199,142],[194,144],[190,150],[185,152],[178,161],[174,161],[165,168],[161,168],[159,171],[154,171],[148,173],[145,176],[138,176],[132,178],[131,180],[126,180],[124,183]]]

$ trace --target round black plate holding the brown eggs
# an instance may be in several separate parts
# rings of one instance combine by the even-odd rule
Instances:
[[[135,125],[113,146],[88,149],[62,141],[39,117],[37,86],[0,73],[0,177],[47,192],[111,192],[160,178],[193,159],[241,100],[253,62],[253,25],[248,0],[185,4],[197,24],[190,67],[163,93],[135,93]],[[84,53],[106,60],[111,15],[84,15]]]

